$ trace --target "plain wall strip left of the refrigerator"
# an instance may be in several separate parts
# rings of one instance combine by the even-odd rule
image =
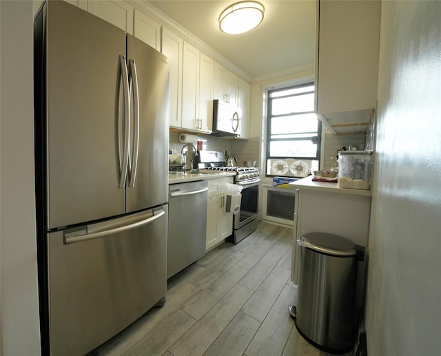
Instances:
[[[40,354],[32,22],[32,1],[0,1],[0,353],[8,356]]]

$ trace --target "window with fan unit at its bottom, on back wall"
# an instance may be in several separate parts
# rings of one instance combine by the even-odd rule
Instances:
[[[314,83],[270,90],[267,98],[266,174],[302,177],[318,170],[322,126]]]

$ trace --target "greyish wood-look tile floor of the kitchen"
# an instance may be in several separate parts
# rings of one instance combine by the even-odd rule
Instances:
[[[168,280],[164,306],[93,355],[327,355],[298,334],[288,313],[297,297],[292,233],[259,222],[238,244],[220,244]]]

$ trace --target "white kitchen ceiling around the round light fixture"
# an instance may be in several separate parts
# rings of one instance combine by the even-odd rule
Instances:
[[[247,73],[250,81],[314,63],[315,0],[261,0],[265,17],[244,34],[225,34],[218,17],[236,0],[148,1]]]

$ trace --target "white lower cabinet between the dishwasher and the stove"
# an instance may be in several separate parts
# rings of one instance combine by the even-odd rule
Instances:
[[[225,241],[233,233],[233,213],[225,211],[227,183],[233,183],[233,178],[208,181],[207,250]]]

